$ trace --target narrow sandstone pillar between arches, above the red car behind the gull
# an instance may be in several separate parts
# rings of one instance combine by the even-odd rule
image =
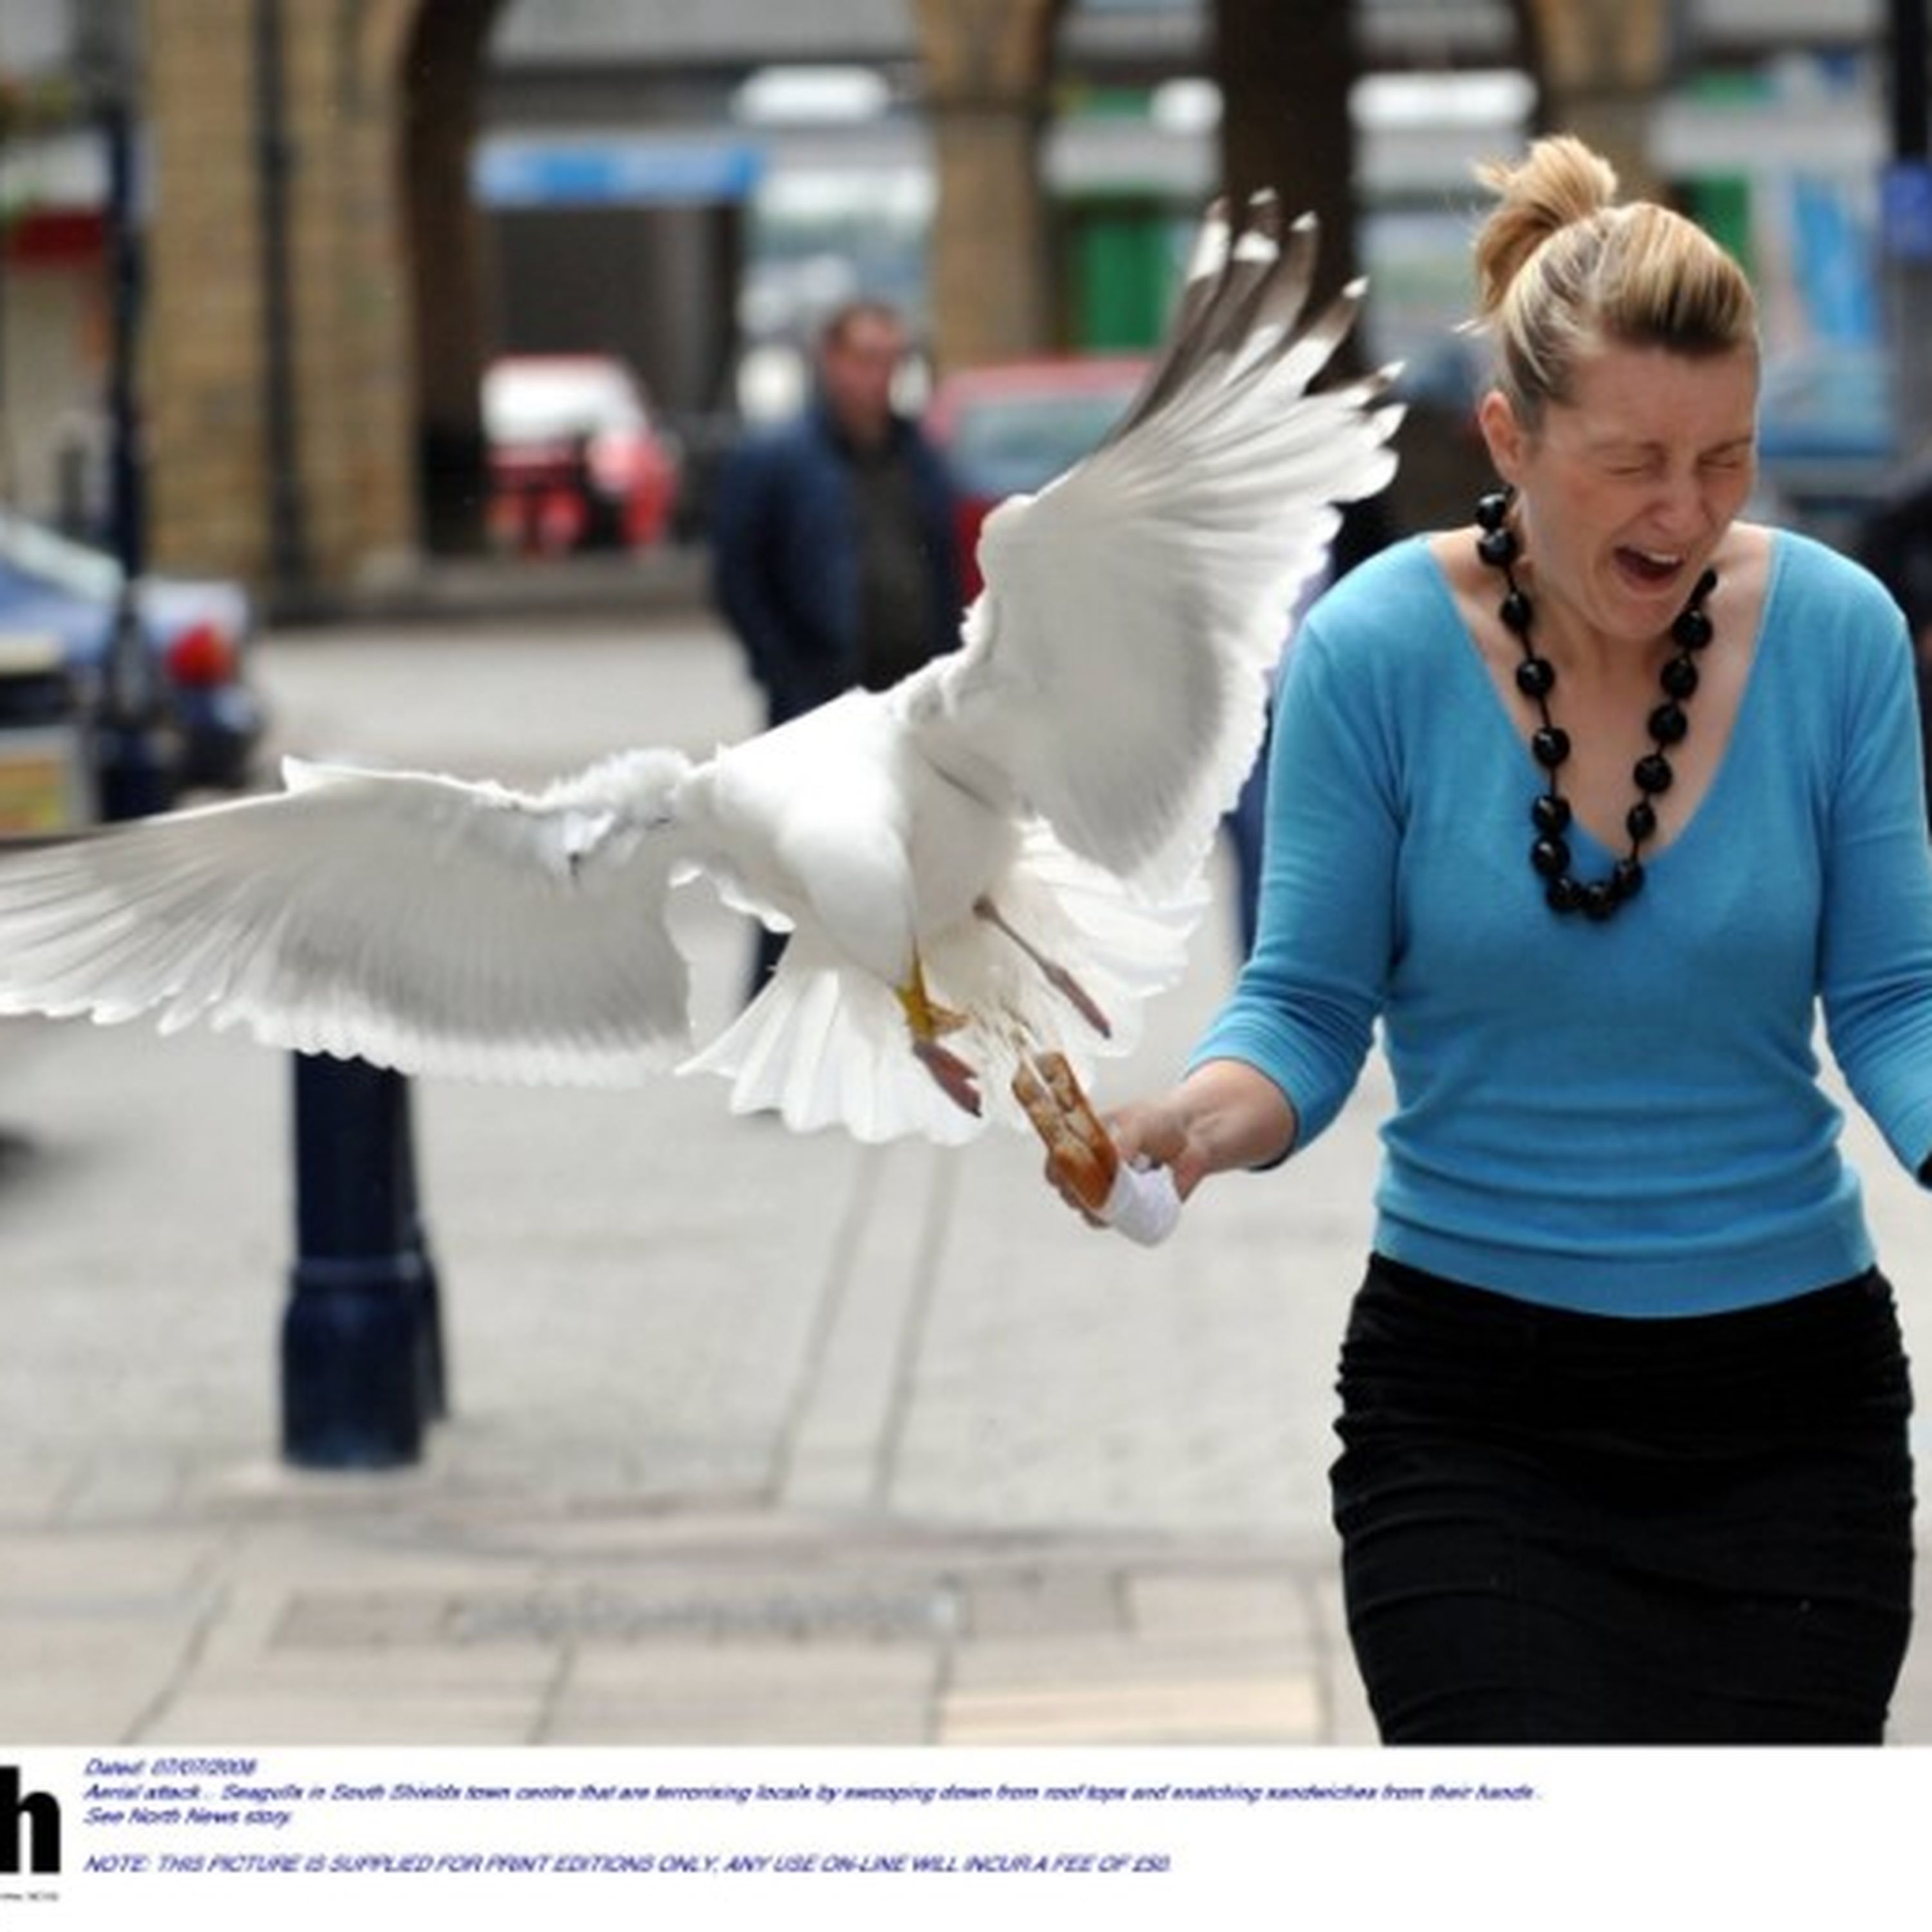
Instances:
[[[993,361],[1053,338],[1039,137],[1065,0],[914,0],[933,126],[933,350]]]

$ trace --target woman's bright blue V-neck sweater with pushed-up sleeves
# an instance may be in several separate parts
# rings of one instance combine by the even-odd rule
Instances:
[[[1696,713],[1692,705],[1692,730]],[[1690,823],[1598,925],[1530,871],[1540,775],[1424,539],[1302,624],[1254,954],[1194,1063],[1300,1115],[1395,1080],[1376,1244],[1534,1302],[1679,1316],[1872,1264],[1816,1016],[1911,1169],[1932,1151],[1932,864],[1905,624],[1779,535],[1750,680]],[[1578,871],[1617,856],[1586,831]]]

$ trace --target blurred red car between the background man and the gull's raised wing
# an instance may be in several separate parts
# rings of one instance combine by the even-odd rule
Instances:
[[[960,497],[968,595],[980,589],[974,553],[987,512],[1051,483],[1086,456],[1126,412],[1146,373],[1146,355],[1051,355],[939,379],[925,429],[945,452]]]

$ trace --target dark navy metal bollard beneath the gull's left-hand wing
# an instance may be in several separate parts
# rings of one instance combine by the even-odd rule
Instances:
[[[410,1084],[296,1055],[296,1264],[282,1318],[282,1455],[415,1463],[446,1412],[437,1273],[415,1196]]]

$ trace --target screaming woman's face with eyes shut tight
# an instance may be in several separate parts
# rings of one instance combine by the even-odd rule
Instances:
[[[1756,413],[1752,348],[1600,350],[1534,431],[1492,390],[1482,431],[1540,597],[1600,636],[1667,630],[1750,497]]]

